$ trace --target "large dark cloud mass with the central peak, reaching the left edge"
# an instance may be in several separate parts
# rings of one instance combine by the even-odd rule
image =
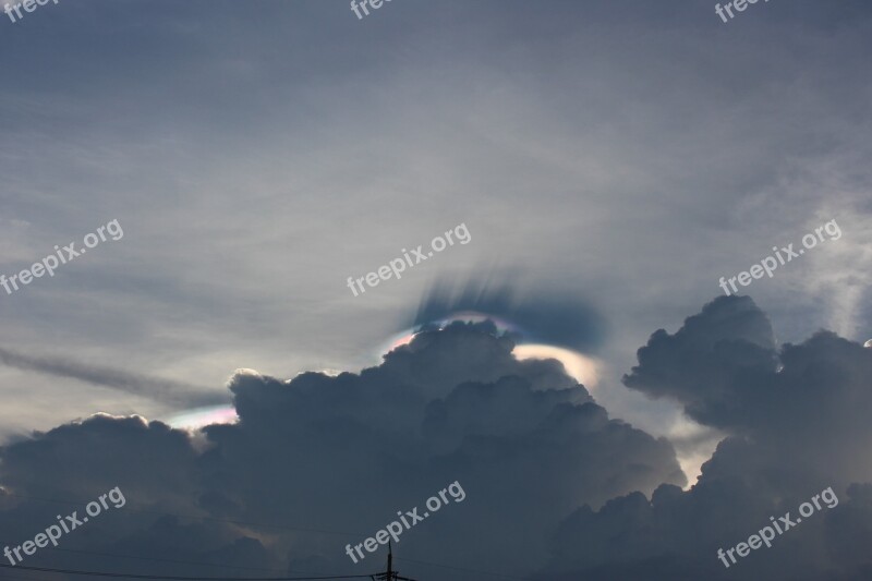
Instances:
[[[207,427],[205,443],[157,422],[97,416],[3,448],[0,483],[39,498],[88,499],[120,486],[131,510],[94,523],[105,536],[70,535],[69,548],[197,562],[225,554],[244,567],[258,556],[259,566],[356,573],[377,571],[384,554],[354,566],[347,543],[455,481],[465,500],[407,531],[400,557],[530,570],[546,562],[548,534],[578,506],[685,483],[668,443],[609,420],[558,362],[519,362],[512,339],[495,334],[489,323],[423,332],[360,375],[284,382],[240,372],[230,383],[240,422]],[[0,538],[50,523],[37,500],[4,505]],[[106,569],[96,557],[58,553],[40,562]]]

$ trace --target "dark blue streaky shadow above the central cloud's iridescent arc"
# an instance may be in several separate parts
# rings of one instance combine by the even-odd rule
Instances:
[[[461,311],[505,317],[520,327],[526,342],[547,342],[591,352],[605,340],[605,322],[578,294],[537,292],[521,296],[508,285],[470,280],[455,286],[436,282],[424,296],[415,326],[427,325]]]

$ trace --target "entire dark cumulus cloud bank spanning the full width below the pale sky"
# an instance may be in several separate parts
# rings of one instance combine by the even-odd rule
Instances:
[[[513,348],[492,323],[455,323],[360,374],[240,371],[238,424],[192,435],[96,415],[34,434],[0,449],[0,538],[32,538],[35,522],[76,509],[68,501],[119,486],[123,510],[34,565],[370,574],[383,554],[354,564],[346,546],[460,482],[462,504],[403,534],[404,574],[470,578],[435,562],[541,581],[870,578],[869,349],[827,331],[777,347],[767,317],[736,296],[652,335],[626,385],[727,435],[683,491],[667,441],[609,419],[558,362],[518,361]],[[776,518],[798,521],[829,487],[832,508],[729,568],[718,559]]]

